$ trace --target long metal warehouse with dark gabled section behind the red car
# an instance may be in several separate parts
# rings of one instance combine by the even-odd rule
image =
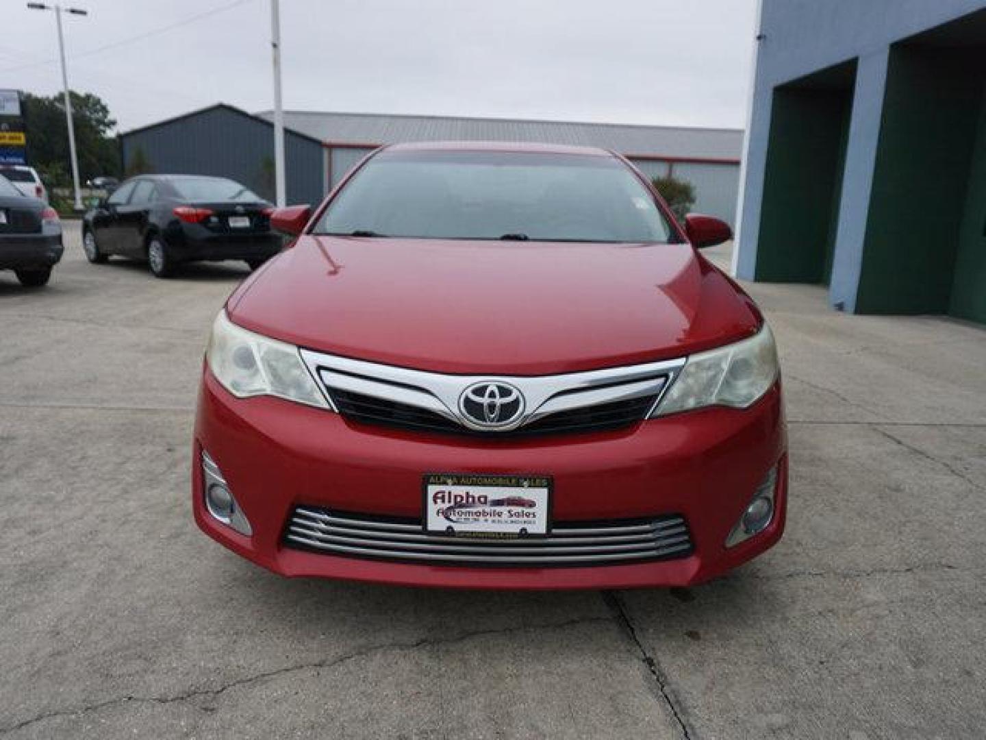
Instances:
[[[270,111],[219,104],[120,135],[124,168],[139,156],[157,173],[221,175],[272,198]],[[409,141],[524,141],[611,149],[648,177],[695,185],[694,210],[735,220],[742,131],[737,129],[285,111],[285,174],[292,203],[314,203],[366,154]]]

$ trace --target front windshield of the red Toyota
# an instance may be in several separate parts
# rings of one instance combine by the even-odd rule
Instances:
[[[316,234],[545,242],[668,242],[622,162],[584,154],[385,151],[335,197]]]

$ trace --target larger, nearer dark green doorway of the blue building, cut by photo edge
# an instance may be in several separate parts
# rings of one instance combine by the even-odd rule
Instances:
[[[890,48],[856,310],[986,322],[986,11]]]

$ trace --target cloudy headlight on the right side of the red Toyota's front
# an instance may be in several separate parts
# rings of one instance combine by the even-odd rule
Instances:
[[[688,358],[654,416],[706,406],[745,408],[777,379],[774,334],[764,324],[748,339]]]

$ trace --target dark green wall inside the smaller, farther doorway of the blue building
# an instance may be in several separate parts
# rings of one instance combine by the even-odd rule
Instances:
[[[755,279],[827,281],[851,90],[774,91]]]

